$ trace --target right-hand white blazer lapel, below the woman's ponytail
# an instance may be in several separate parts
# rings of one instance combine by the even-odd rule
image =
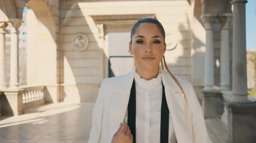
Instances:
[[[169,73],[160,70],[165,86],[166,101],[172,118],[172,125],[178,143],[193,143],[185,118],[185,99],[180,87]]]

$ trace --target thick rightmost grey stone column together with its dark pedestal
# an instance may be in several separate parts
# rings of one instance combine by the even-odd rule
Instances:
[[[233,6],[233,88],[231,92],[222,92],[228,110],[226,143],[256,142],[256,102],[250,102],[247,99],[246,3],[247,0],[231,1]]]

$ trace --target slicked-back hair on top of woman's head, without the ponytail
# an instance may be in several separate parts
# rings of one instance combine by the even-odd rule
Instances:
[[[161,34],[163,36],[163,42],[165,42],[165,31],[164,31],[163,25],[157,19],[154,19],[151,17],[145,17],[143,19],[140,19],[133,25],[133,27],[131,28],[131,38],[132,36],[134,36],[135,30],[140,26],[141,23],[153,23],[157,25],[157,27],[160,29]]]

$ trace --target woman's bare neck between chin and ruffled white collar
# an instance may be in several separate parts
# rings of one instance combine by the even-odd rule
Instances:
[[[159,74],[159,67],[154,69],[145,69],[140,66],[136,66],[136,72],[140,75],[140,78],[145,80],[154,79]]]

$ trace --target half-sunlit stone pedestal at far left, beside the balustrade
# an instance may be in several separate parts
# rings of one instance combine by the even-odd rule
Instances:
[[[23,89],[6,89],[1,95],[1,111],[3,115],[13,116],[23,114]]]

